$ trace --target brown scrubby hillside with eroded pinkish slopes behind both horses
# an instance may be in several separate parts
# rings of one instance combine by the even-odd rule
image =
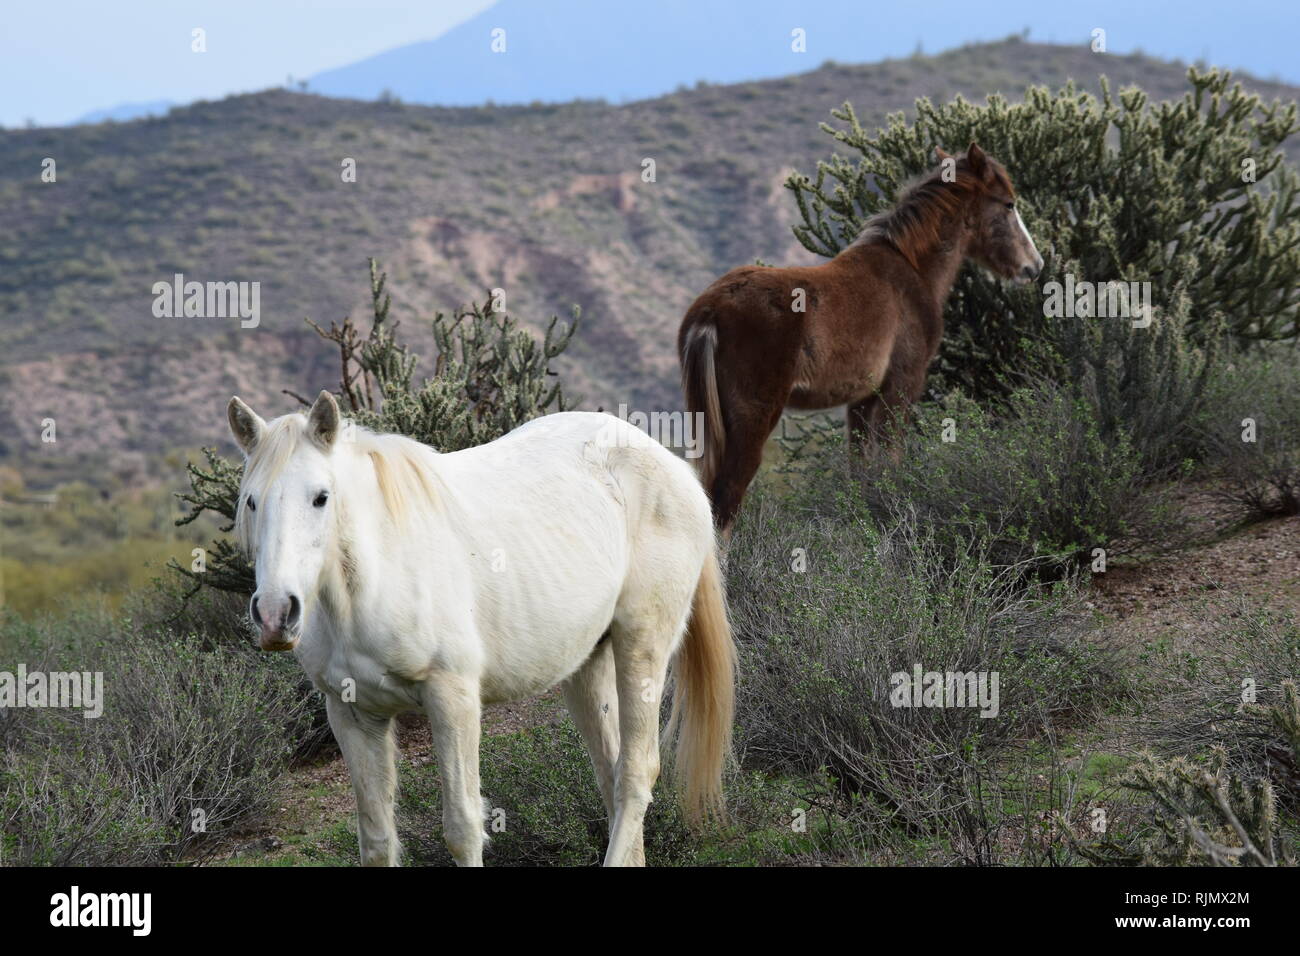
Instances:
[[[1098,73],[1157,99],[1184,87],[1179,64],[1008,40],[621,107],[269,91],[0,131],[0,462],[29,485],[91,470],[134,480],[159,451],[224,444],[231,393],[272,414],[292,406],[281,389],[333,385],[335,356],[303,319],[361,315],[372,255],[425,354],[421,316],[499,286],[532,324],[582,308],[564,368],[586,406],[672,406],[692,298],[732,265],[807,258],[781,182],[828,153],[818,124],[832,107],[852,100],[876,122],[916,96],[1095,88]],[[655,182],[641,178],[647,157]],[[341,177],[348,159],[355,182]],[[176,273],[259,282],[260,324],[156,317],[153,284]],[[55,445],[40,442],[46,418]]]

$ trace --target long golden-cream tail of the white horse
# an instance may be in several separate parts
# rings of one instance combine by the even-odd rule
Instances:
[[[673,778],[686,819],[724,817],[723,769],[731,757],[736,714],[736,645],[716,549],[696,584],[686,636],[673,662],[676,688],[668,739],[677,735]]]

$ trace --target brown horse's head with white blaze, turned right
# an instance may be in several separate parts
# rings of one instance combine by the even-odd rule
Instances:
[[[942,150],[936,152],[941,161],[952,159]],[[1002,278],[1032,281],[1043,268],[1043,256],[1015,208],[1015,189],[1006,169],[971,143],[956,160],[956,172],[970,191],[966,255]]]

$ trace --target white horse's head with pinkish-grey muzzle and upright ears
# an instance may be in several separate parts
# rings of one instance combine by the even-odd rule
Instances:
[[[263,650],[292,650],[304,610],[317,598],[326,558],[338,544],[333,467],[338,403],[321,392],[308,415],[266,423],[235,397],[226,414],[244,453],[235,533],[257,575],[250,614]]]

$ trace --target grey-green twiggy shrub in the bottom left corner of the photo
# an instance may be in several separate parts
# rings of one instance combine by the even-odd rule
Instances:
[[[96,643],[86,623],[32,626],[12,615],[3,622],[0,646],[47,649],[29,670],[104,675],[98,718],[81,710],[4,711],[6,860],[174,861],[265,812],[309,711],[296,676],[231,648],[204,652],[194,641],[130,623],[112,627],[108,619],[100,619],[108,630]]]

